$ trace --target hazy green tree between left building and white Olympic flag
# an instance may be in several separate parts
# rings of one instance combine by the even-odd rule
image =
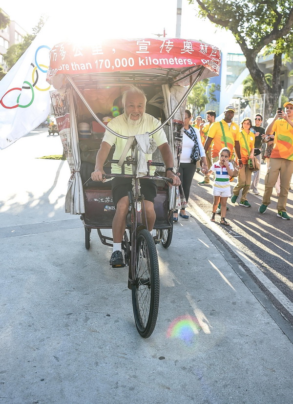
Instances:
[[[19,60],[29,45],[33,42],[45,21],[46,18],[41,16],[38,24],[33,28],[32,34],[25,35],[21,43],[14,43],[7,49],[7,52],[5,55],[3,55],[3,60],[7,64],[8,70],[11,69],[11,67]]]

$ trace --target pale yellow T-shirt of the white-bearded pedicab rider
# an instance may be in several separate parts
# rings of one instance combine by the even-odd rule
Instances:
[[[153,116],[149,114],[145,114],[143,121],[141,122],[140,125],[137,126],[129,126],[127,124],[125,115],[119,115],[116,118],[112,119],[107,125],[108,128],[113,129],[115,132],[119,133],[120,135],[123,136],[135,136],[135,135],[142,135],[146,132],[151,132],[155,128],[158,128],[158,126],[161,125],[161,122],[154,118]],[[164,143],[168,143],[166,134],[163,129],[160,129],[158,132],[154,133],[150,138],[153,137],[157,143],[157,146],[161,146]],[[107,142],[109,145],[113,146],[115,145],[115,151],[113,154],[113,160],[119,160],[123,150],[125,149],[125,145],[127,142],[127,139],[122,139],[118,136],[113,135],[109,131],[105,131],[105,135],[103,137],[103,142]],[[128,150],[126,156],[131,156],[131,149]],[[146,154],[146,161],[152,159],[152,154]],[[155,166],[150,166],[149,168],[149,174],[154,175],[154,172],[156,170]],[[113,174],[121,174],[121,167],[119,167],[117,164],[112,164],[112,169],[111,172]],[[127,166],[125,164],[125,173],[126,174],[132,174],[132,166],[129,165]]]

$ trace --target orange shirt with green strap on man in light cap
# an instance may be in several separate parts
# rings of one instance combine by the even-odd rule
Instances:
[[[226,142],[220,122],[223,125]],[[235,140],[239,140],[239,126],[235,124],[235,122],[231,122],[230,128],[227,122],[224,121],[224,119],[222,119],[220,122],[213,122],[209,128],[208,136],[213,139],[213,145],[211,149],[212,158],[217,157],[220,150],[224,147],[228,147],[228,149],[232,153],[235,145]]]

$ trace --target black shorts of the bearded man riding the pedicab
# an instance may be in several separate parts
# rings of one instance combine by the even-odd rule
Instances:
[[[112,197],[114,205],[117,206],[119,199],[124,196],[128,196],[128,191],[132,191],[132,179],[131,178],[113,178],[112,183]],[[144,195],[147,201],[155,202],[157,196],[157,185],[155,180],[152,179],[140,179],[141,194]]]

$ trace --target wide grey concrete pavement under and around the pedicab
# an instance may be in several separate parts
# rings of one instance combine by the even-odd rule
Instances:
[[[94,231],[87,251],[64,213],[67,163],[24,156],[30,142],[0,151],[0,403],[291,404],[292,343],[197,222],[179,219],[157,246],[159,316],[144,340],[127,268],[109,267]]]

